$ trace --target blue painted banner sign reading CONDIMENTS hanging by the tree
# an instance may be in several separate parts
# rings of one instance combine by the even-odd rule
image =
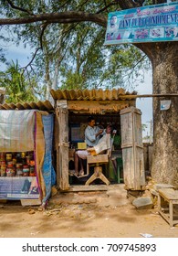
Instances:
[[[178,4],[148,5],[112,12],[105,45],[178,41]]]

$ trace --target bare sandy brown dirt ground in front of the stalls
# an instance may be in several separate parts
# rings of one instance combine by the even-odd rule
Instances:
[[[137,209],[123,185],[108,191],[57,194],[47,209],[0,203],[1,238],[178,238],[157,208]]]

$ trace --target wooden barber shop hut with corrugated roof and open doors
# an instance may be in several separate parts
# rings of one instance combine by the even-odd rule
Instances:
[[[135,107],[136,93],[123,89],[50,92],[55,101],[58,188],[107,190],[108,186],[124,183],[126,189],[141,190],[145,177],[141,111]],[[90,129],[89,118],[100,131],[96,137],[104,139],[110,127],[110,146],[101,146],[101,151],[94,150],[92,144],[89,146],[85,137],[86,129]]]

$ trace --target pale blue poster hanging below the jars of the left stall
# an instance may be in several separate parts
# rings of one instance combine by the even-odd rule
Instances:
[[[37,176],[5,176],[0,178],[1,199],[38,199]]]

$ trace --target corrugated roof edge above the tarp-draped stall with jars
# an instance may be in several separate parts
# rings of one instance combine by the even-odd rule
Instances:
[[[24,103],[4,103],[0,104],[0,110],[39,110],[54,111],[50,101],[24,102]]]

